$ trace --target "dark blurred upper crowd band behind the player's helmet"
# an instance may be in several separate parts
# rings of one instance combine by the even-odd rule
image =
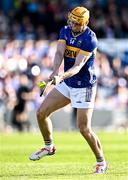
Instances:
[[[90,10],[89,26],[98,38],[128,37],[126,0],[1,0],[0,38],[55,40],[77,5]]]

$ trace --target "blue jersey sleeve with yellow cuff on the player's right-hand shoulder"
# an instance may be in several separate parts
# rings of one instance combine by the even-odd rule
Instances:
[[[91,55],[97,49],[97,38],[95,35],[83,42],[81,52],[87,56]]]

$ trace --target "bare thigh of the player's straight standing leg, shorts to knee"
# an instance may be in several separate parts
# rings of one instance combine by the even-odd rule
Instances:
[[[91,128],[91,119],[93,108],[78,108],[77,109],[77,125],[78,127]]]

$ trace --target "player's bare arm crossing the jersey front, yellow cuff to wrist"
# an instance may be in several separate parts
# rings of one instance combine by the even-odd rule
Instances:
[[[64,72],[59,76],[61,81],[77,74],[84,66],[84,64],[87,62],[90,55],[91,55],[90,52],[86,53],[85,55],[82,51],[80,51],[76,56],[76,61],[75,64],[72,66],[72,68],[70,68],[68,71]]]

